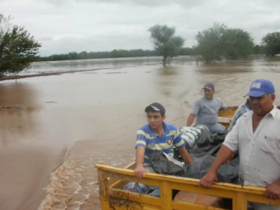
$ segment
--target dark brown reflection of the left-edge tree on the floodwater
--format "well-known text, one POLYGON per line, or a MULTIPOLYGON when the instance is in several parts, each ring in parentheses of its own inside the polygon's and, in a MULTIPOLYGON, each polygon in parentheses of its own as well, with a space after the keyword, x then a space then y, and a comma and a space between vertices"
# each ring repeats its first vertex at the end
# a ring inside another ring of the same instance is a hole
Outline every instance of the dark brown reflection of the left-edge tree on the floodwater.
POLYGON ((4 147, 38 131, 40 107, 36 105, 37 93, 31 86, 20 82, 0 85, 0 139, 4 147))

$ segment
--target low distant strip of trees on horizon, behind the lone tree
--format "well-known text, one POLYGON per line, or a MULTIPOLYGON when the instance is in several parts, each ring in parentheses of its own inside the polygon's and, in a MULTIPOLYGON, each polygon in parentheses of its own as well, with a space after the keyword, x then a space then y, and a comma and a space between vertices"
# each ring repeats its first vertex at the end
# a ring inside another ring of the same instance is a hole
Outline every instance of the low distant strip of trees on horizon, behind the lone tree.
MULTIPOLYGON (((179 49, 178 55, 192 55, 193 49, 183 47, 179 49)), ((47 57, 35 57, 36 62, 42 61, 62 61, 62 60, 79 60, 79 59, 98 59, 98 58, 119 58, 119 57, 144 57, 144 56, 160 56, 160 53, 156 50, 113 50, 104 52, 86 52, 81 53, 71 52, 68 54, 55 54, 47 57)))

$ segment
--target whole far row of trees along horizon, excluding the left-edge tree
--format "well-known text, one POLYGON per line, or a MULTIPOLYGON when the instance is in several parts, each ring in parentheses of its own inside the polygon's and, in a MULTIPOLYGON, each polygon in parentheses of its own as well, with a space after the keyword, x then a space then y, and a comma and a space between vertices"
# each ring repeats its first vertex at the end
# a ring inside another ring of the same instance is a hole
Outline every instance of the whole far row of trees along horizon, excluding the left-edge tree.
POLYGON ((122 50, 104 52, 71 52, 68 54, 55 54, 48 57, 35 57, 35 61, 60 61, 97 58, 144 57, 163 56, 163 65, 168 57, 178 55, 196 56, 197 61, 211 63, 214 60, 246 60, 251 54, 265 54, 274 56, 280 53, 279 32, 269 33, 263 37, 260 44, 255 45, 249 32, 240 28, 229 28, 225 24, 214 23, 212 27, 198 31, 195 36, 197 44, 183 47, 184 38, 175 36, 175 27, 167 25, 154 25, 148 31, 154 44, 154 50, 122 50))

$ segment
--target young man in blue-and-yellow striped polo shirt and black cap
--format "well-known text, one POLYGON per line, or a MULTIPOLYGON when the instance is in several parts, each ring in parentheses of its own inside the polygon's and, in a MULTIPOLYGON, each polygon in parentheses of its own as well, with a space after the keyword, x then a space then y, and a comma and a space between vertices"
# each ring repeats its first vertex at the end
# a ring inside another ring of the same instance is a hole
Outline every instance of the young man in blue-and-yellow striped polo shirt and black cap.
MULTIPOLYGON (((148 155, 153 150, 168 154, 173 145, 178 148, 184 162, 190 164, 192 162, 191 156, 185 148, 185 143, 181 139, 178 129, 174 125, 164 122, 165 108, 163 105, 152 103, 145 108, 145 112, 148 124, 137 131, 135 176, 141 179, 145 177, 145 172, 155 173, 150 165, 148 155)), ((160 196, 159 191, 154 192, 154 196, 160 196)))

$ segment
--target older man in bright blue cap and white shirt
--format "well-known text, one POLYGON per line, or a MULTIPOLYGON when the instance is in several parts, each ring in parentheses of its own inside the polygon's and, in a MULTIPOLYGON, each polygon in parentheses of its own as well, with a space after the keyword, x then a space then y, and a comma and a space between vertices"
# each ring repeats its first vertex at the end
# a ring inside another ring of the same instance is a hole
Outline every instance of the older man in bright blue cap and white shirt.
MULTIPOLYGON (((210 188, 218 168, 239 150, 239 182, 265 187, 265 196, 280 199, 280 110, 273 105, 275 89, 271 81, 253 81, 249 96, 251 111, 243 114, 225 137, 214 163, 199 185, 210 188)), ((255 210, 280 207, 249 203, 255 210)))

